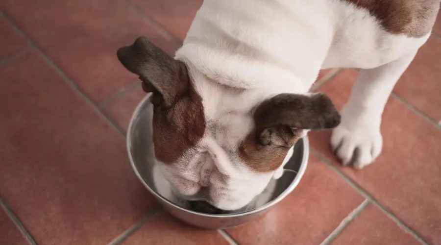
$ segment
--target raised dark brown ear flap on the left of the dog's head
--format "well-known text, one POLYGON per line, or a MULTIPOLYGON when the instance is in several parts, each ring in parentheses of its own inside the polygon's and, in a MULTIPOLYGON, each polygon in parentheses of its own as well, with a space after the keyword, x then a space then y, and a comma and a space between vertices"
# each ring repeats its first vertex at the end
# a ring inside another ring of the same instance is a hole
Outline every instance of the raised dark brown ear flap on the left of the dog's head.
POLYGON ((137 38, 131 46, 118 49, 117 56, 127 70, 140 76, 143 90, 152 92, 156 98, 160 98, 155 101, 166 107, 172 106, 189 86, 190 78, 185 64, 174 60, 145 37, 137 38))

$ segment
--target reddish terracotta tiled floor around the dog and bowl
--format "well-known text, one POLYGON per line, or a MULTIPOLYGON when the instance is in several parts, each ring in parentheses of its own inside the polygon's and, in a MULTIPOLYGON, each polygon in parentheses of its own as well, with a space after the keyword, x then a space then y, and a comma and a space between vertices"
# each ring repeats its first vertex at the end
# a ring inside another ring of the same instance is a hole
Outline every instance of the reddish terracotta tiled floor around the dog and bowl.
MULTIPOLYGON (((386 106, 373 165, 340 167, 330 132, 313 133, 294 193, 206 231, 161 209, 124 144, 144 93, 116 49, 144 35, 173 53, 201 0, 179 2, 0 1, 0 245, 441 245, 441 18, 386 106)), ((356 75, 323 71, 316 87, 341 107, 356 75)))

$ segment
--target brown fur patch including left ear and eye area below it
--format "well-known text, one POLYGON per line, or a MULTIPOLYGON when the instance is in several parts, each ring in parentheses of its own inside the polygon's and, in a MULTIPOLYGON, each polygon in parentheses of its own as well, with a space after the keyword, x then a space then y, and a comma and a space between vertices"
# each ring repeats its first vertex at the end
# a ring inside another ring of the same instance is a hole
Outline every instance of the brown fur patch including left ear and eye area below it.
POLYGON ((144 37, 118 49, 117 56, 127 70, 140 75, 143 90, 152 92, 156 158, 164 163, 176 161, 196 146, 206 126, 202 98, 186 65, 144 37))

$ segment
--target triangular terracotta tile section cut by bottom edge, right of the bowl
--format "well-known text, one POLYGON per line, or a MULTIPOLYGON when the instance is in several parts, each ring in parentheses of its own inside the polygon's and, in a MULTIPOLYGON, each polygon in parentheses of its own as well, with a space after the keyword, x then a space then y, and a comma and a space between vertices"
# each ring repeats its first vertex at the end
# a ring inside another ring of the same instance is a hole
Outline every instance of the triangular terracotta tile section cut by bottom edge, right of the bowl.
POLYGON ((332 245, 418 245, 381 210, 369 204, 334 240, 332 245))

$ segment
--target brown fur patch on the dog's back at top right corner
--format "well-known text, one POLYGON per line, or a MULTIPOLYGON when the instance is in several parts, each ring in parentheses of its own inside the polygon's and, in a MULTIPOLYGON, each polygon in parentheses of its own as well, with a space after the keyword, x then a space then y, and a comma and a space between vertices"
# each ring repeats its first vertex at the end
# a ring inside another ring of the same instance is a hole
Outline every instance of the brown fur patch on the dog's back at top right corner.
POLYGON ((364 8, 392 34, 423 37, 435 23, 440 0, 341 0, 364 8))

